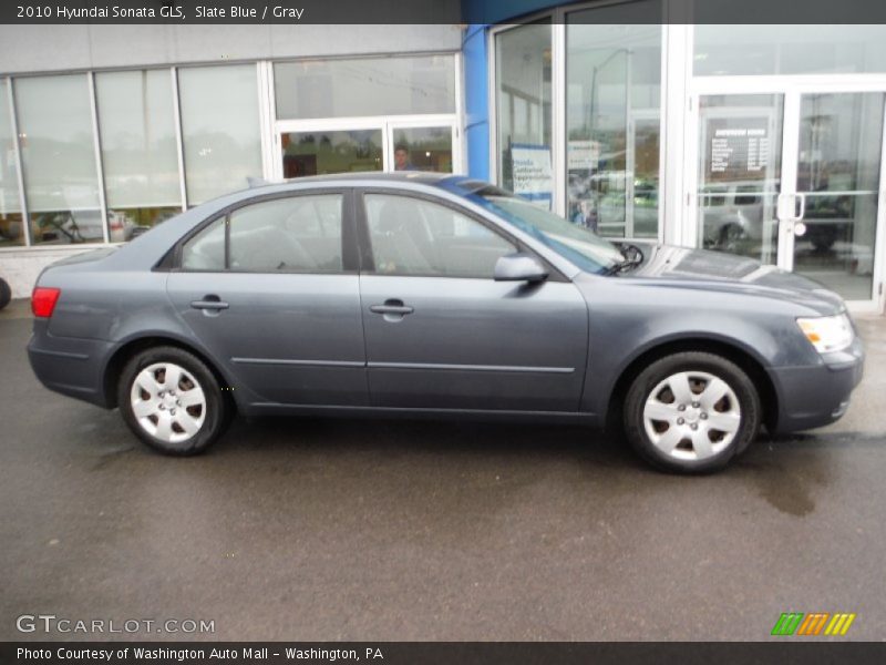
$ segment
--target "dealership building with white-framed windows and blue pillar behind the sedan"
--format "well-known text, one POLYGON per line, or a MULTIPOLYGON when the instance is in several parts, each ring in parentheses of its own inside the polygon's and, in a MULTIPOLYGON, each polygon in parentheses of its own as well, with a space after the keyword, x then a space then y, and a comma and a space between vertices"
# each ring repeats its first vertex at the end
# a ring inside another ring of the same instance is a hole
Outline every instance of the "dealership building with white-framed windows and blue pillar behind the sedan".
POLYGON ((471 6, 463 24, 0 27, 0 276, 23 297, 49 263, 247 178, 394 171, 405 150, 883 311, 886 25, 471 6))

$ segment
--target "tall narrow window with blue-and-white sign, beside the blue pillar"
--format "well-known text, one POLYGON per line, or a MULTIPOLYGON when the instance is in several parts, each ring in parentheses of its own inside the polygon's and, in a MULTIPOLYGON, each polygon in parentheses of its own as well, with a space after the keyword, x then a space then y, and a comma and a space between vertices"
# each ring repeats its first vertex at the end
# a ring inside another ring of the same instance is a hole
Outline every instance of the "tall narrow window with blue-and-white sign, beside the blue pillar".
POLYGON ((495 35, 498 183, 550 209, 550 20, 495 35))

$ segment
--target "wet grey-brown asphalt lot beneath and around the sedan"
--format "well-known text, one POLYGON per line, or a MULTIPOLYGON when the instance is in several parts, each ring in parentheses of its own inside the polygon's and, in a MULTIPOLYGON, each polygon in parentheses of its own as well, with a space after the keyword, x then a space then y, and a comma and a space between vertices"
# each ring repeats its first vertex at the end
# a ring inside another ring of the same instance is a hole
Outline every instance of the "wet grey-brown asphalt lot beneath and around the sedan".
POLYGON ((23 309, 0 313, 0 640, 103 637, 21 634, 22 614, 206 620, 187 636, 213 640, 766 640, 787 611, 886 637, 884 318, 859 320, 841 422, 680 478, 594 430, 470 422, 238 420, 164 458, 37 382, 23 309))

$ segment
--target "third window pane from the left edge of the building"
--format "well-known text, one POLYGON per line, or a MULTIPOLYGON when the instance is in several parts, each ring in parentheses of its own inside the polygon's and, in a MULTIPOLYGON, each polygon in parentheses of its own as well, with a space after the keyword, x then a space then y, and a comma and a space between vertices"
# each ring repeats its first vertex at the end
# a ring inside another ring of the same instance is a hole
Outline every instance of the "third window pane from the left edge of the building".
POLYGON ((182 209, 169 70, 95 74, 112 242, 182 209))

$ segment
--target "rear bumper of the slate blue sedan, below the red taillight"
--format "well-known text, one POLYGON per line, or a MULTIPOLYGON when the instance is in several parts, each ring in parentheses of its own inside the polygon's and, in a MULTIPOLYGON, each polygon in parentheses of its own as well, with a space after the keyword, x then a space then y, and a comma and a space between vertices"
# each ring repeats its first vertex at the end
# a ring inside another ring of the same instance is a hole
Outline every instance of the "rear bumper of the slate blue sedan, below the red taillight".
POLYGON ((47 323, 34 321, 28 359, 37 378, 55 392, 107 408, 103 368, 112 344, 97 339, 52 337, 47 323))

